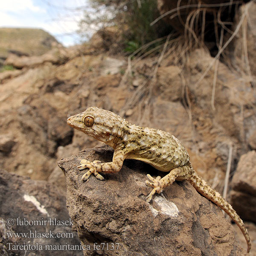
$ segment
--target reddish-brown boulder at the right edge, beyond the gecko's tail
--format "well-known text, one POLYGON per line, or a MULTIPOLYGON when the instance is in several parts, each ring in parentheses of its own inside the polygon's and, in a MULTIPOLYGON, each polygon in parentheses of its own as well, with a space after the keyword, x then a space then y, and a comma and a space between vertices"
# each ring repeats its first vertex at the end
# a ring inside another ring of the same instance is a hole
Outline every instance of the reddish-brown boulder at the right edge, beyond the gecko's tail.
POLYGON ((255 221, 256 151, 243 154, 232 179, 230 203, 243 220, 255 221))

